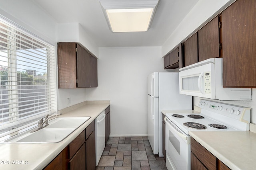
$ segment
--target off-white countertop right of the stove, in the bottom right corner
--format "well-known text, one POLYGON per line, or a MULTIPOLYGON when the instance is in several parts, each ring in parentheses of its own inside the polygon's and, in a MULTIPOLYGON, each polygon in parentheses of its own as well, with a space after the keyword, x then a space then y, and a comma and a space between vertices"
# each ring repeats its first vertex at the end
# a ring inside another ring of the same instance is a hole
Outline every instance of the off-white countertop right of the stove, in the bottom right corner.
POLYGON ((232 170, 256 168, 256 133, 190 131, 189 135, 232 170))

